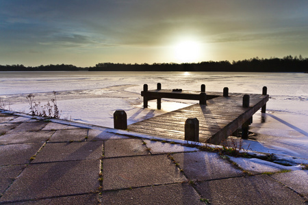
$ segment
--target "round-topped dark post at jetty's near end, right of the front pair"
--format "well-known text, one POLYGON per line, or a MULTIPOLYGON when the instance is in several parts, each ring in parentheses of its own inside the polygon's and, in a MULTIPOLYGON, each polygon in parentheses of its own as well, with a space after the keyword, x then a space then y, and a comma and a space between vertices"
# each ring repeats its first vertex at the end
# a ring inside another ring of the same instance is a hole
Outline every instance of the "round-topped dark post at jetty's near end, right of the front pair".
POLYGON ((199 120, 188 118, 185 121, 185 140, 199 141, 199 120))

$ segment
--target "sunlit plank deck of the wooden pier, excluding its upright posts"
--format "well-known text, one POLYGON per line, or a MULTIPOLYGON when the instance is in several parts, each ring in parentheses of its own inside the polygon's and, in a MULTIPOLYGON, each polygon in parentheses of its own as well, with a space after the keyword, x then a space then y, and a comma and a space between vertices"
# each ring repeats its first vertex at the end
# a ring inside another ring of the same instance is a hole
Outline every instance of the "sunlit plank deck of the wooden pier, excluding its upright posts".
MULTIPOLYGON (((172 91, 151 90, 146 91, 150 95, 147 100, 158 98, 170 98, 172 91), (163 95, 157 95, 157 93, 163 95)), ((173 92, 173 97, 178 98, 177 92, 173 92)), ((194 94, 196 96, 188 99, 198 100, 200 92, 181 92, 181 94, 194 94)), ((196 104, 171 111, 154 118, 143 120, 128 126, 130 131, 146 133, 159 137, 172 139, 185 139, 185 120, 188 118, 197 118, 199 121, 199 141, 206 143, 220 143, 227 139, 244 123, 247 123, 261 107, 265 107, 269 96, 267 94, 248 94, 250 96, 249 107, 243 107, 244 94, 230 93, 229 96, 223 96, 222 92, 206 92, 206 105, 196 104)), ((144 96, 144 93, 143 95, 144 96)), ((183 98, 182 95, 181 98, 183 98)), ((158 102, 158 100, 157 100, 158 102)), ((160 102, 160 99, 159 99, 160 102)), ((146 102, 147 105, 147 102, 146 102)))

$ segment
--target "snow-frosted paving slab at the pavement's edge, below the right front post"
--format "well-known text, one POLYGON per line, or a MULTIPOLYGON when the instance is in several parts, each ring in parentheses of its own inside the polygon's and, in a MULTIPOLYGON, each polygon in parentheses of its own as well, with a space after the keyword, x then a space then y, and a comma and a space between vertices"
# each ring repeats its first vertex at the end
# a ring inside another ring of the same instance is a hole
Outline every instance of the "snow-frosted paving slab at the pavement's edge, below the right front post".
POLYGON ((152 154, 172 153, 172 152, 194 152, 197 148, 181 146, 180 144, 163 143, 161 141, 151 141, 144 139, 146 147, 151 149, 152 154))

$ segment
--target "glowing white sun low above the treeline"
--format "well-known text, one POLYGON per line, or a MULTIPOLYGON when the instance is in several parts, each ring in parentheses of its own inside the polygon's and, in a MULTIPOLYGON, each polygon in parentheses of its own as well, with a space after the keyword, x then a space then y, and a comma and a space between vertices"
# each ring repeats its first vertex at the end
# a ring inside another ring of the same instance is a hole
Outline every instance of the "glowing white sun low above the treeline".
POLYGON ((192 40, 185 40, 175 44, 175 58, 181 63, 197 61, 201 54, 201 44, 192 40))

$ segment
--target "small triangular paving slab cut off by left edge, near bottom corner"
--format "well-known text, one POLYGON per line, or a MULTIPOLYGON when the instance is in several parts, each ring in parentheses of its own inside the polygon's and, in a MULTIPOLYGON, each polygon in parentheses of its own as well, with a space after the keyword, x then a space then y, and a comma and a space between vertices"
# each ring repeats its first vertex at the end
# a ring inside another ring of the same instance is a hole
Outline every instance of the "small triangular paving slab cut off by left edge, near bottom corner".
POLYGON ((0 196, 5 189, 8 189, 10 184, 14 181, 16 176, 21 173, 25 165, 5 166, 0 167, 0 196))

